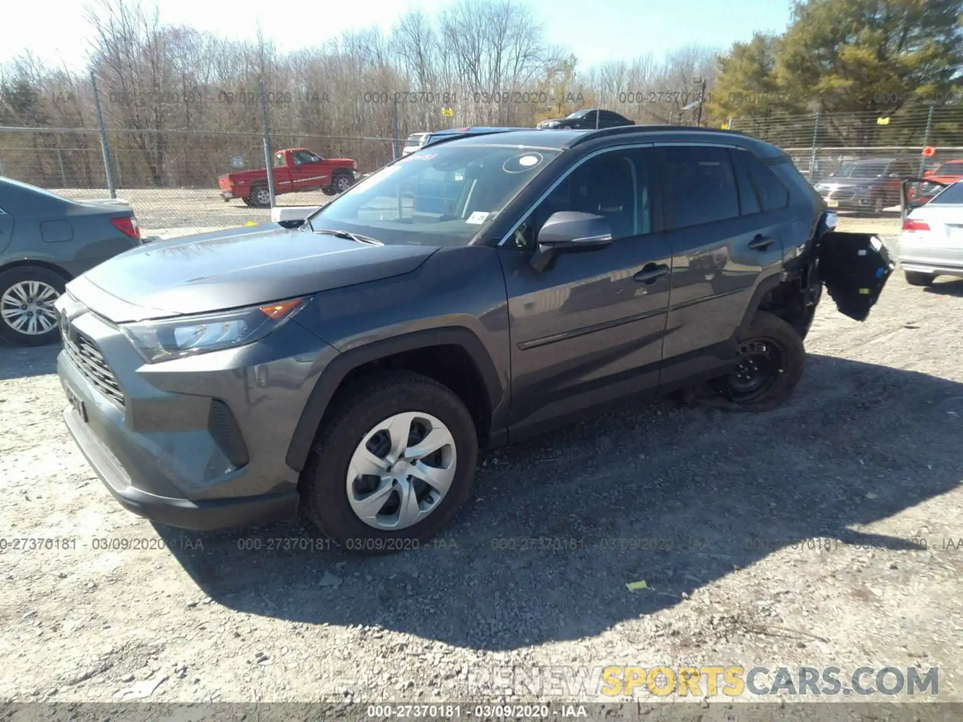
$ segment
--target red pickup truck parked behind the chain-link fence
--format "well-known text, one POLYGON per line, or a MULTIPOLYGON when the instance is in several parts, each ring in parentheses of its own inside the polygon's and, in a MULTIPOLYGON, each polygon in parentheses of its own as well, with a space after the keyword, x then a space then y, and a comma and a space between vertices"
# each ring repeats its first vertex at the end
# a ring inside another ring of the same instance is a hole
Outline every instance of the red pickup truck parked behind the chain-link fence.
MULTIPOLYGON (((274 193, 321 190, 325 195, 344 193, 358 178, 358 165, 350 158, 322 158, 306 148, 286 148, 274 153, 274 193)), ((239 170, 218 178, 221 198, 241 198, 248 206, 271 205, 268 173, 263 168, 239 170)))

